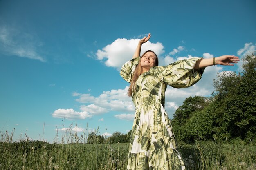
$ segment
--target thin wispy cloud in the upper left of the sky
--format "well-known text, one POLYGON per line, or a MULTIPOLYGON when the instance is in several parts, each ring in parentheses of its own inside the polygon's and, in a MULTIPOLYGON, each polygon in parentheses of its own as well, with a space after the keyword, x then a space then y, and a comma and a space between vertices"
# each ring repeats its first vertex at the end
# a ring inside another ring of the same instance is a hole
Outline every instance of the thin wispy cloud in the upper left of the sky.
POLYGON ((0 26, 0 53, 4 55, 16 55, 45 62, 45 57, 37 52, 41 45, 42 43, 36 40, 36 36, 0 26))

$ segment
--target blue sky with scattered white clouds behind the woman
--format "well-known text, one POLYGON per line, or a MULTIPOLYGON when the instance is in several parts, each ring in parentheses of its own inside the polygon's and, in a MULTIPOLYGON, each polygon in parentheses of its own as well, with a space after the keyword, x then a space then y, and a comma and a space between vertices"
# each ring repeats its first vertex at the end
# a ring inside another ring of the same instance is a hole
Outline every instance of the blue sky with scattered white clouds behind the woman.
MULTIPOLYGON (((160 65, 243 57, 256 49, 255 7, 255 0, 1 0, 0 131, 49 142, 69 128, 127 133, 134 107, 119 70, 140 38, 151 33, 142 52, 153 49, 160 65)), ((241 64, 209 67, 187 89, 167 88, 169 117, 186 97, 209 96, 217 72, 241 64)))

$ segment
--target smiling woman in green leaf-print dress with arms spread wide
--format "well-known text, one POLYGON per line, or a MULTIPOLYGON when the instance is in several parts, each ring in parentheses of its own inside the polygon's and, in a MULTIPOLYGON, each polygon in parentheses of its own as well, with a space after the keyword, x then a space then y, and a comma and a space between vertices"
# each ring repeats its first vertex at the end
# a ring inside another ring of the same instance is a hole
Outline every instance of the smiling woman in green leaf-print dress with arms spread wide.
POLYGON ((192 86, 202 76, 204 68, 215 64, 237 63, 238 57, 224 55, 211 59, 191 58, 158 66, 157 55, 141 46, 151 35, 142 38, 132 60, 121 68, 120 75, 130 84, 136 112, 132 126, 127 170, 184 170, 184 161, 177 150, 170 120, 164 110, 167 85, 175 88, 192 86))

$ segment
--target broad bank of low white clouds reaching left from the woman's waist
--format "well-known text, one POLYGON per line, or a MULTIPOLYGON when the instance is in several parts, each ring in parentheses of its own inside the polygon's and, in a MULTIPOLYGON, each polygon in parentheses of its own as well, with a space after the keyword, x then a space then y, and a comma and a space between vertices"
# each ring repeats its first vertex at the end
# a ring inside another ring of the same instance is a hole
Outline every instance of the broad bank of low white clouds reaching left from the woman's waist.
MULTIPOLYGON (((80 111, 74 109, 58 109, 52 113, 52 117, 66 119, 87 119, 94 115, 108 113, 110 111, 117 112, 134 112, 132 100, 127 95, 128 86, 124 89, 113 89, 111 91, 103 91, 98 97, 90 94, 82 94, 74 92, 72 95, 77 97, 76 101, 83 103, 80 111)), ((103 121, 104 119, 99 119, 103 121)))

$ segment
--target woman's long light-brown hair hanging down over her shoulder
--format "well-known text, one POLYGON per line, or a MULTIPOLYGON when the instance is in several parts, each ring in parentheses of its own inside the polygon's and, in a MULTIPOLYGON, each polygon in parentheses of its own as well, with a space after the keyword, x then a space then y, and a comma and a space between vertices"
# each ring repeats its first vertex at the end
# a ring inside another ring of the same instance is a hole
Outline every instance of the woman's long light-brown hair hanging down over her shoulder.
MULTIPOLYGON (((147 53, 147 52, 152 52, 155 54, 154 51, 152 50, 147 50, 145 51, 145 53, 143 53, 139 59, 139 64, 136 66, 134 72, 133 72, 133 75, 132 75, 132 81, 131 81, 131 84, 130 84, 130 87, 128 89, 128 96, 131 97, 132 96, 132 93, 133 91, 135 91, 135 82, 137 81, 137 79, 139 78, 139 75, 141 75, 142 73, 142 66, 140 65, 140 61, 141 61, 141 58, 147 53)), ((155 66, 158 66, 158 57, 157 55, 155 54, 156 56, 156 60, 155 60, 155 66)))

